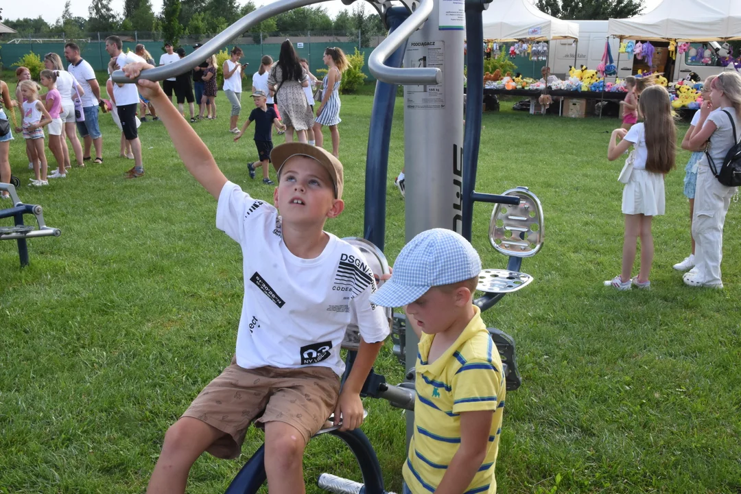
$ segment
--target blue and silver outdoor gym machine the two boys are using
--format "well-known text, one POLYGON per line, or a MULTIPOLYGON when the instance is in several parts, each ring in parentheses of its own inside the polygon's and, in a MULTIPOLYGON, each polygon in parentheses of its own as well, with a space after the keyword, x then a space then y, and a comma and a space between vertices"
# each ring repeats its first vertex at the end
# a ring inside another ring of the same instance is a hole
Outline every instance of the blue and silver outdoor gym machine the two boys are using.
MULTIPOLYGON (((254 24, 296 7, 325 0, 278 0, 247 14, 184 59, 144 70, 139 79, 160 81, 193 69, 254 24)), ((476 166, 481 133, 483 99, 483 35, 481 13, 485 0, 466 0, 465 8, 453 0, 368 0, 381 16, 388 37, 368 57, 368 69, 376 77, 376 93, 368 134, 365 167, 364 238, 346 239, 364 254, 376 278, 388 273, 383 256, 385 246, 386 184, 391 119, 397 84, 405 87, 405 175, 407 176, 405 216, 406 240, 417 233, 443 227, 471 240, 473 203, 497 204, 491 216, 489 239, 495 250, 508 256, 506 270, 484 270, 479 290, 485 293, 474 303, 487 310, 507 293, 522 289, 532 277, 520 273, 522 258, 534 256, 543 242, 543 213, 536 196, 526 187, 516 187, 501 196, 477 193, 476 166), (463 37, 468 39, 468 106, 463 133, 463 37), (422 67, 418 67, 422 61, 422 67), (402 67, 402 62, 404 67, 402 67), (465 144, 465 145, 464 145, 465 144)), ((345 4, 353 0, 343 0, 345 4)), ((131 82, 122 71, 113 81, 131 82)), ((389 314, 389 316, 391 316, 389 314)), ((508 390, 521 383, 516 368, 513 338, 490 328, 502 358, 508 390)), ((410 412, 414 407, 414 371, 417 338, 407 328, 403 315, 394 315, 393 353, 407 367, 406 380, 399 386, 387 384, 384 376, 371 371, 363 397, 384 398, 394 407, 410 412)), ((348 350, 345 376, 353 366, 359 333, 348 327, 342 347, 348 350)), ((411 435, 412 414, 407 413, 411 435)), ((319 477, 319 486, 333 493, 386 494, 381 468, 370 441, 362 430, 329 433, 345 441, 358 460, 362 483, 331 474, 319 477)), ((253 494, 265 482, 265 447, 260 447, 236 475, 227 494, 253 494)))

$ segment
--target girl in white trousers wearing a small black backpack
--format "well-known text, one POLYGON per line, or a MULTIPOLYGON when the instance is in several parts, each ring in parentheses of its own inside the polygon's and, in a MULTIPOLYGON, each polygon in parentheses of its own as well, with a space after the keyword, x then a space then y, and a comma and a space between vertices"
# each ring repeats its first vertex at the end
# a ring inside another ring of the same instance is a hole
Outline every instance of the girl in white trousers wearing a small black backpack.
POLYGON ((711 83, 710 98, 712 105, 711 101, 702 104, 700 121, 689 142, 692 150, 705 148, 705 157, 697 170, 692 219, 695 267, 682 279, 690 287, 722 288, 723 224, 741 179, 738 173, 734 176, 734 167, 741 166, 738 156, 734 158, 741 135, 741 76, 721 73, 711 83))

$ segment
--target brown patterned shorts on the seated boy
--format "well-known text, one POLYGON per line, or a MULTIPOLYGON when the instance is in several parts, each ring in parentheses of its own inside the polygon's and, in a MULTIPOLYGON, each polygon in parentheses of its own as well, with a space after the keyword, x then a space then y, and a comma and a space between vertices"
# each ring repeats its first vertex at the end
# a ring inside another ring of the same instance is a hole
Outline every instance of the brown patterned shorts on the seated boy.
POLYGON ((244 369, 232 359, 182 416, 226 433, 207 452, 217 458, 236 458, 253 421, 285 422, 308 443, 334 412, 338 397, 339 378, 329 367, 244 369))

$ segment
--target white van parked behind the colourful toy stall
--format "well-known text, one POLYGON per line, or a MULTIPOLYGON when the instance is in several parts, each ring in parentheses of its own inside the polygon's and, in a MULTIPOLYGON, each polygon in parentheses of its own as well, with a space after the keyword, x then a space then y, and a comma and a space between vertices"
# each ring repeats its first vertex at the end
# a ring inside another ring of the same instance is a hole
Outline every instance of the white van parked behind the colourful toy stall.
MULTIPOLYGON (((574 21, 579 24, 579 41, 571 39, 554 39, 551 41, 548 53, 548 65, 551 73, 560 79, 568 77, 569 67, 581 67, 585 65, 588 69, 597 69, 605 53, 605 41, 608 40, 608 21, 574 21)), ((654 58, 649 67, 645 59, 638 60, 632 54, 618 53, 619 40, 609 38, 610 48, 614 62, 617 66, 617 76, 625 79, 638 73, 638 70, 647 72, 655 70, 664 73, 666 79, 677 81, 685 79, 689 73, 694 72, 705 80, 707 76, 717 74, 723 70, 734 70, 732 65, 728 67, 708 66, 700 61, 693 61, 690 53, 677 53, 677 60, 671 59, 668 54, 668 42, 651 42, 654 45, 654 58), (619 58, 618 58, 619 56, 619 58)), ((627 39, 623 41, 628 41, 627 39)), ((635 40, 639 41, 639 40, 635 40)), ((719 45, 712 46, 710 43, 692 43, 695 50, 714 50, 719 45)), ((608 81, 614 81, 615 76, 608 77, 608 81)))

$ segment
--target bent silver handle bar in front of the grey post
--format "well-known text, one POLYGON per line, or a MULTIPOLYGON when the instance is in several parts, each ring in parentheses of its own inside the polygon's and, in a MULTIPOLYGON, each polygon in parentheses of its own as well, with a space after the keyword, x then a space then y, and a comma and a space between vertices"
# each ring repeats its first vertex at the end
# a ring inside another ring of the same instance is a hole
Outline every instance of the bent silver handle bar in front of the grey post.
POLYGON ((422 0, 409 18, 389 33, 388 37, 379 44, 371 56, 368 57, 368 70, 373 77, 388 84, 440 84, 442 72, 438 68, 407 68, 399 69, 385 64, 386 59, 396 48, 406 43, 409 36, 425 23, 432 13, 434 0, 422 0))

